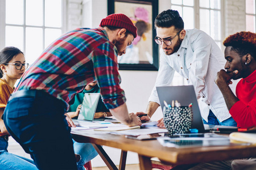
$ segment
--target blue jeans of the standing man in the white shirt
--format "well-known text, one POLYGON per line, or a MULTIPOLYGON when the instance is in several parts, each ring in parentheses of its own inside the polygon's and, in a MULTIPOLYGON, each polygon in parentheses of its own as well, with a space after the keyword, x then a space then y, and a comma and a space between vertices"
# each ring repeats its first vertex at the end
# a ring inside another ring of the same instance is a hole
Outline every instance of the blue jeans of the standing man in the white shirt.
POLYGON ((237 126, 237 122, 232 117, 229 117, 225 121, 220 122, 217 117, 210 110, 208 115, 208 122, 203 119, 204 124, 207 125, 221 125, 221 126, 237 126))

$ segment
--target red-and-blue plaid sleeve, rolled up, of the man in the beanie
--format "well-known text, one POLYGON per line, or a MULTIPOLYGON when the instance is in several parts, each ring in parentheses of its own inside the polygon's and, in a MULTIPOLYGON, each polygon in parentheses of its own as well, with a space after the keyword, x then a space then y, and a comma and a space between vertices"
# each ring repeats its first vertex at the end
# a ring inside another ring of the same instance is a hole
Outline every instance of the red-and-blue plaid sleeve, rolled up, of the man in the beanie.
POLYGON ((94 50, 92 55, 94 74, 100 87, 101 97, 108 109, 114 109, 126 101, 120 87, 116 48, 106 42, 94 50))

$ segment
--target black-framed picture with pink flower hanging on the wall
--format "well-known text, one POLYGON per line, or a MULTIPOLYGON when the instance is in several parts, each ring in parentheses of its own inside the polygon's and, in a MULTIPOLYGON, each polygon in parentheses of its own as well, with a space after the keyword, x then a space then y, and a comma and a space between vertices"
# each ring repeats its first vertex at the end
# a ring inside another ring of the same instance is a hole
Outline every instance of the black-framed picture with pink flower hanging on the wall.
POLYGON ((137 27, 137 37, 118 56, 119 70, 158 70, 158 44, 154 20, 158 15, 158 0, 108 0, 108 15, 125 14, 137 27))

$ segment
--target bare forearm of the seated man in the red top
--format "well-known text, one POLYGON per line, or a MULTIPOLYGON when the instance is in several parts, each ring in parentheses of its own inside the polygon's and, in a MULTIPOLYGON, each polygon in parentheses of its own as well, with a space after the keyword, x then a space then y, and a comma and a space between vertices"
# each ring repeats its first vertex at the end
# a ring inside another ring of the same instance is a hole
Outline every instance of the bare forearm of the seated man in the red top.
POLYGON ((230 110, 232 106, 239 101, 239 99, 233 94, 232 90, 226 84, 226 82, 218 82, 217 83, 218 88, 220 88, 220 91, 225 99, 226 106, 230 110))

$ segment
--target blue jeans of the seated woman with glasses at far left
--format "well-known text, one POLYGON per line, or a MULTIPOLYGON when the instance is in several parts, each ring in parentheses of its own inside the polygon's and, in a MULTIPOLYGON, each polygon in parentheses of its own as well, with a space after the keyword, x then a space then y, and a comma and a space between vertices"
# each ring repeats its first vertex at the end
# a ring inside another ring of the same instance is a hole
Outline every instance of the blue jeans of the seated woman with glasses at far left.
POLYGON ((0 138, 0 169, 38 170, 33 160, 11 154, 7 151, 8 141, 0 138))

